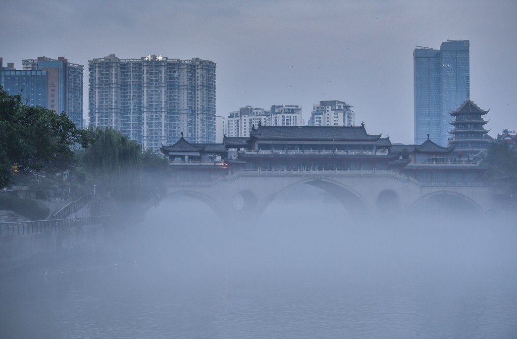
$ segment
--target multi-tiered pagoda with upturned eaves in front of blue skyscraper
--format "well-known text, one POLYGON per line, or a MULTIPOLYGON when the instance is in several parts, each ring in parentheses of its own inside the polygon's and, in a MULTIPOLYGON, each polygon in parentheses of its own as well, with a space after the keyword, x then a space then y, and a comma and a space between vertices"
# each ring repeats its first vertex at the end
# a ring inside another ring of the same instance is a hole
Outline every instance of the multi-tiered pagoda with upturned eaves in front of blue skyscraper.
POLYGON ((492 138, 483 127, 488 121, 484 121, 482 116, 488 112, 474 104, 470 97, 457 110, 450 112, 454 116, 450 123, 454 129, 449 131, 452 135, 449 145, 454 147, 455 157, 474 159, 486 155, 492 138))

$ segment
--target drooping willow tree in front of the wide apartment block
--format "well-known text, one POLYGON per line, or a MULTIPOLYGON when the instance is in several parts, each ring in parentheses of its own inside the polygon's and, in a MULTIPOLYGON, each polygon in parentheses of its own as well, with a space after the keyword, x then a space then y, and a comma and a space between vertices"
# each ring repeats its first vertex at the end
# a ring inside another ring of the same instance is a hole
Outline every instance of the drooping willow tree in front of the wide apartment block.
POLYGON ((80 155, 79 166, 96 195, 134 200, 140 195, 141 146, 113 128, 92 127, 94 142, 80 155))

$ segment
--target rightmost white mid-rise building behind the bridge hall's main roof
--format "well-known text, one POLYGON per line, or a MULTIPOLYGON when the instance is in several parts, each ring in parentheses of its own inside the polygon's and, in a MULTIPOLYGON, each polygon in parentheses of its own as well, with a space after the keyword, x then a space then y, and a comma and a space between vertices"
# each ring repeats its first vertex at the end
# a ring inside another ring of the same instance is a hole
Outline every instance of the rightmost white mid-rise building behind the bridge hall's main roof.
POLYGON ((351 105, 339 100, 324 100, 312 106, 309 126, 354 126, 355 112, 351 105))

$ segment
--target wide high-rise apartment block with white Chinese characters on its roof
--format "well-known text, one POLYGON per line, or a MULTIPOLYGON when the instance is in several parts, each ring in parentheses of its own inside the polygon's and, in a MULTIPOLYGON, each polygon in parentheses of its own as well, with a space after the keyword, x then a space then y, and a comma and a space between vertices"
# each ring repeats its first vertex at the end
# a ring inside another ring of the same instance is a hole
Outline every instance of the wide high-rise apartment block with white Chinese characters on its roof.
POLYGON ((158 150, 183 134, 191 143, 216 142, 216 64, 200 58, 115 54, 88 61, 89 123, 122 131, 158 150))

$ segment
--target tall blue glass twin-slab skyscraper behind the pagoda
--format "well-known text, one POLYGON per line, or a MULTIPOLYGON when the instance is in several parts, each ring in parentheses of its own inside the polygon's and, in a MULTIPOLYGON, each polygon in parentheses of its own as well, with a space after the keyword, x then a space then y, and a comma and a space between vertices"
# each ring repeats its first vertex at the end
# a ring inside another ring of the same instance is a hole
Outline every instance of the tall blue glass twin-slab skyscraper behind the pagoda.
POLYGON ((450 112, 467 99, 470 87, 469 41, 448 40, 439 50, 418 47, 413 52, 415 144, 430 139, 447 146, 450 112))

